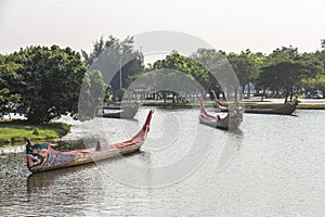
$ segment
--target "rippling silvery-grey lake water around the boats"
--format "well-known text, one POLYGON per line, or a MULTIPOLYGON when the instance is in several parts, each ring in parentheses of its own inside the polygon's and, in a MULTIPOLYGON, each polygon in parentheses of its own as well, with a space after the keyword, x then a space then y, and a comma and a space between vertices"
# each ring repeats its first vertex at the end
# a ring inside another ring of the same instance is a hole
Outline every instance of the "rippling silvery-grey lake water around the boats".
MULTIPOLYGON (((147 111, 68 120, 65 139, 127 140, 147 111)), ((235 132, 197 115, 156 110, 141 152, 48 173, 28 171, 24 145, 0 148, 0 216, 324 216, 325 111, 245 114, 235 132)))

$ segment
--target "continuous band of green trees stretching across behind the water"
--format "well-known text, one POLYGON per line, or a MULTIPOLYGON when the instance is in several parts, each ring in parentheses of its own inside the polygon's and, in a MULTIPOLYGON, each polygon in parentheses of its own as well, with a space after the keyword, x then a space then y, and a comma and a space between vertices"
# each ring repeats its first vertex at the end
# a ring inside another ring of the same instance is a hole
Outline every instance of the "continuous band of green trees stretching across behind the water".
POLYGON ((321 47, 310 53, 281 47, 270 54, 249 49, 234 53, 200 48, 190 56, 172 51, 145 66, 132 37, 102 37, 90 52, 81 54, 56 44, 31 46, 0 54, 0 115, 20 113, 26 123, 35 125, 66 114, 89 119, 100 104, 121 101, 123 97, 162 100, 168 106, 186 107, 204 91, 214 89, 218 97, 224 97, 220 80, 213 76, 213 72, 224 69, 235 73, 242 93, 248 98, 251 85, 255 94, 285 101, 295 94, 312 95, 316 90, 324 93, 325 40, 321 40, 321 47))

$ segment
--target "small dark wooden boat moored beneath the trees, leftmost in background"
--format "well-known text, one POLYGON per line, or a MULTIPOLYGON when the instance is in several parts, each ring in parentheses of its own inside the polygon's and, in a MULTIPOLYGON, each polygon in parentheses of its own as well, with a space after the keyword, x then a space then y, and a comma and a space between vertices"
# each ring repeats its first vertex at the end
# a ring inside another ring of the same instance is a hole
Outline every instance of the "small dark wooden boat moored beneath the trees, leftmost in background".
POLYGON ((138 113, 139 106, 103 106, 98 111, 98 117, 107 117, 107 118, 125 118, 132 119, 138 113), (106 112, 106 111, 109 112, 106 112), (114 112, 112 112, 114 111, 114 112))

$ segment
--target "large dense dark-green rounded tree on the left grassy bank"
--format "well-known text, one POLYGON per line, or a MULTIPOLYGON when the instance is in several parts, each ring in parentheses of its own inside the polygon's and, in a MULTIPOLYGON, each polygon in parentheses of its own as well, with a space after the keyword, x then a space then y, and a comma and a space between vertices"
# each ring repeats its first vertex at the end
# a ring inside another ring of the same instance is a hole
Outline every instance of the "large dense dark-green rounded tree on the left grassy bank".
POLYGON ((58 46, 28 47, 9 56, 21 64, 20 111, 28 122, 47 123, 78 112, 81 81, 87 72, 79 53, 58 46))

